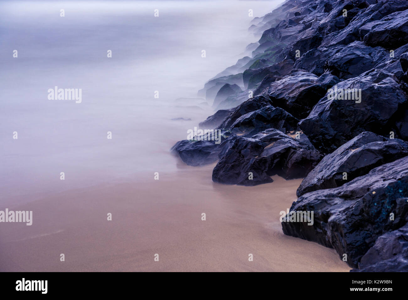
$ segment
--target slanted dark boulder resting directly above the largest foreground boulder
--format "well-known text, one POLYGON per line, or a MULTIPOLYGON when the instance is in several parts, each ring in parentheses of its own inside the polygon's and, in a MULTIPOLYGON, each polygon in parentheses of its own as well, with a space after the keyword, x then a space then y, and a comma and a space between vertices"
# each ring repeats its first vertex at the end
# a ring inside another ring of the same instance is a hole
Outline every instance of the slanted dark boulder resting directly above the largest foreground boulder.
POLYGON ((384 163, 408 155, 408 143, 373 132, 361 132, 322 161, 303 179, 297 196, 315 190, 336 188, 384 163), (346 172, 346 177, 344 177, 346 172))

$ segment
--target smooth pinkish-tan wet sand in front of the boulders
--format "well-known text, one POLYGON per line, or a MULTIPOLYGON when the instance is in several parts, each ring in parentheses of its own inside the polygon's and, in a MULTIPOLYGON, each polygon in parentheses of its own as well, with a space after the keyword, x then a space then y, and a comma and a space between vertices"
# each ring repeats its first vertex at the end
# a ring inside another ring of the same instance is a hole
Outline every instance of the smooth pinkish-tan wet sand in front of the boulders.
POLYGON ((333 249, 282 233, 279 212, 296 199, 300 179, 274 176, 273 183, 257 187, 220 185, 211 181, 212 168, 184 167, 160 173, 158 181, 152 174, 134 183, 72 190, 8 207, 32 210, 33 225, 1 224, 0 270, 350 269, 333 249), (112 221, 107 221, 109 212, 112 221))

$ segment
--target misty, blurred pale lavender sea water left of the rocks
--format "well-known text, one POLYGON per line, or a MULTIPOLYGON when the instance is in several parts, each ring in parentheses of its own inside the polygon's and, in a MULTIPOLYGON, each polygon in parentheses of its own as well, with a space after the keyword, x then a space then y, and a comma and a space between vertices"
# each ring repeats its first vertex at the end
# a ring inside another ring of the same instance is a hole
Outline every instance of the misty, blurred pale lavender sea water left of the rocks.
POLYGON ((171 146, 213 110, 175 99, 197 98, 259 39, 249 9, 281 2, 0 2, 0 204, 183 168, 171 146), (48 99, 55 86, 82 102, 48 99))

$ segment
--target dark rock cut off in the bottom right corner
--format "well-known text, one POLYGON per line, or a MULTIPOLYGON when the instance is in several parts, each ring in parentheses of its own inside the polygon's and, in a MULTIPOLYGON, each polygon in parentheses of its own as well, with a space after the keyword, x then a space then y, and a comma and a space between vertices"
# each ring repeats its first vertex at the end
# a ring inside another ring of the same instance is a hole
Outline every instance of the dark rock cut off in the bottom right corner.
POLYGON ((379 236, 351 272, 408 272, 408 224, 379 236))

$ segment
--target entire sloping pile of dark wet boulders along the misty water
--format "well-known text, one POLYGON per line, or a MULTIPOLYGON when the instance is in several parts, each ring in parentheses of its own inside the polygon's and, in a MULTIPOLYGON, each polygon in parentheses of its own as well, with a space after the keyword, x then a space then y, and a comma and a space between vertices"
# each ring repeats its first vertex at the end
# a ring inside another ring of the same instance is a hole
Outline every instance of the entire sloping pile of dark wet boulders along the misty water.
POLYGON ((202 122, 221 144, 173 150, 218 161, 218 183, 305 177, 291 210, 314 223, 283 222, 285 234, 347 254, 353 271, 406 270, 408 1, 287 0, 248 27, 252 53, 200 91, 211 102, 226 84, 241 89, 220 93, 202 122))

